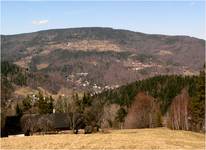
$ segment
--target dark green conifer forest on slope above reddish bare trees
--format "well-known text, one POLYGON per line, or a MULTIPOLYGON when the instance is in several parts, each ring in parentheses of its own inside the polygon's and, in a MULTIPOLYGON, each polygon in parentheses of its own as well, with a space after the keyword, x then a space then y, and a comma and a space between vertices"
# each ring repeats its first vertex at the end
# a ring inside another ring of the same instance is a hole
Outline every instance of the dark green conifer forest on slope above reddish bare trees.
POLYGON ((131 105, 138 92, 145 92, 157 99, 161 104, 161 112, 165 113, 172 99, 183 88, 187 88, 191 97, 197 94, 197 76, 164 75, 155 76, 122 86, 116 90, 105 91, 98 98, 104 98, 109 103, 131 105))

